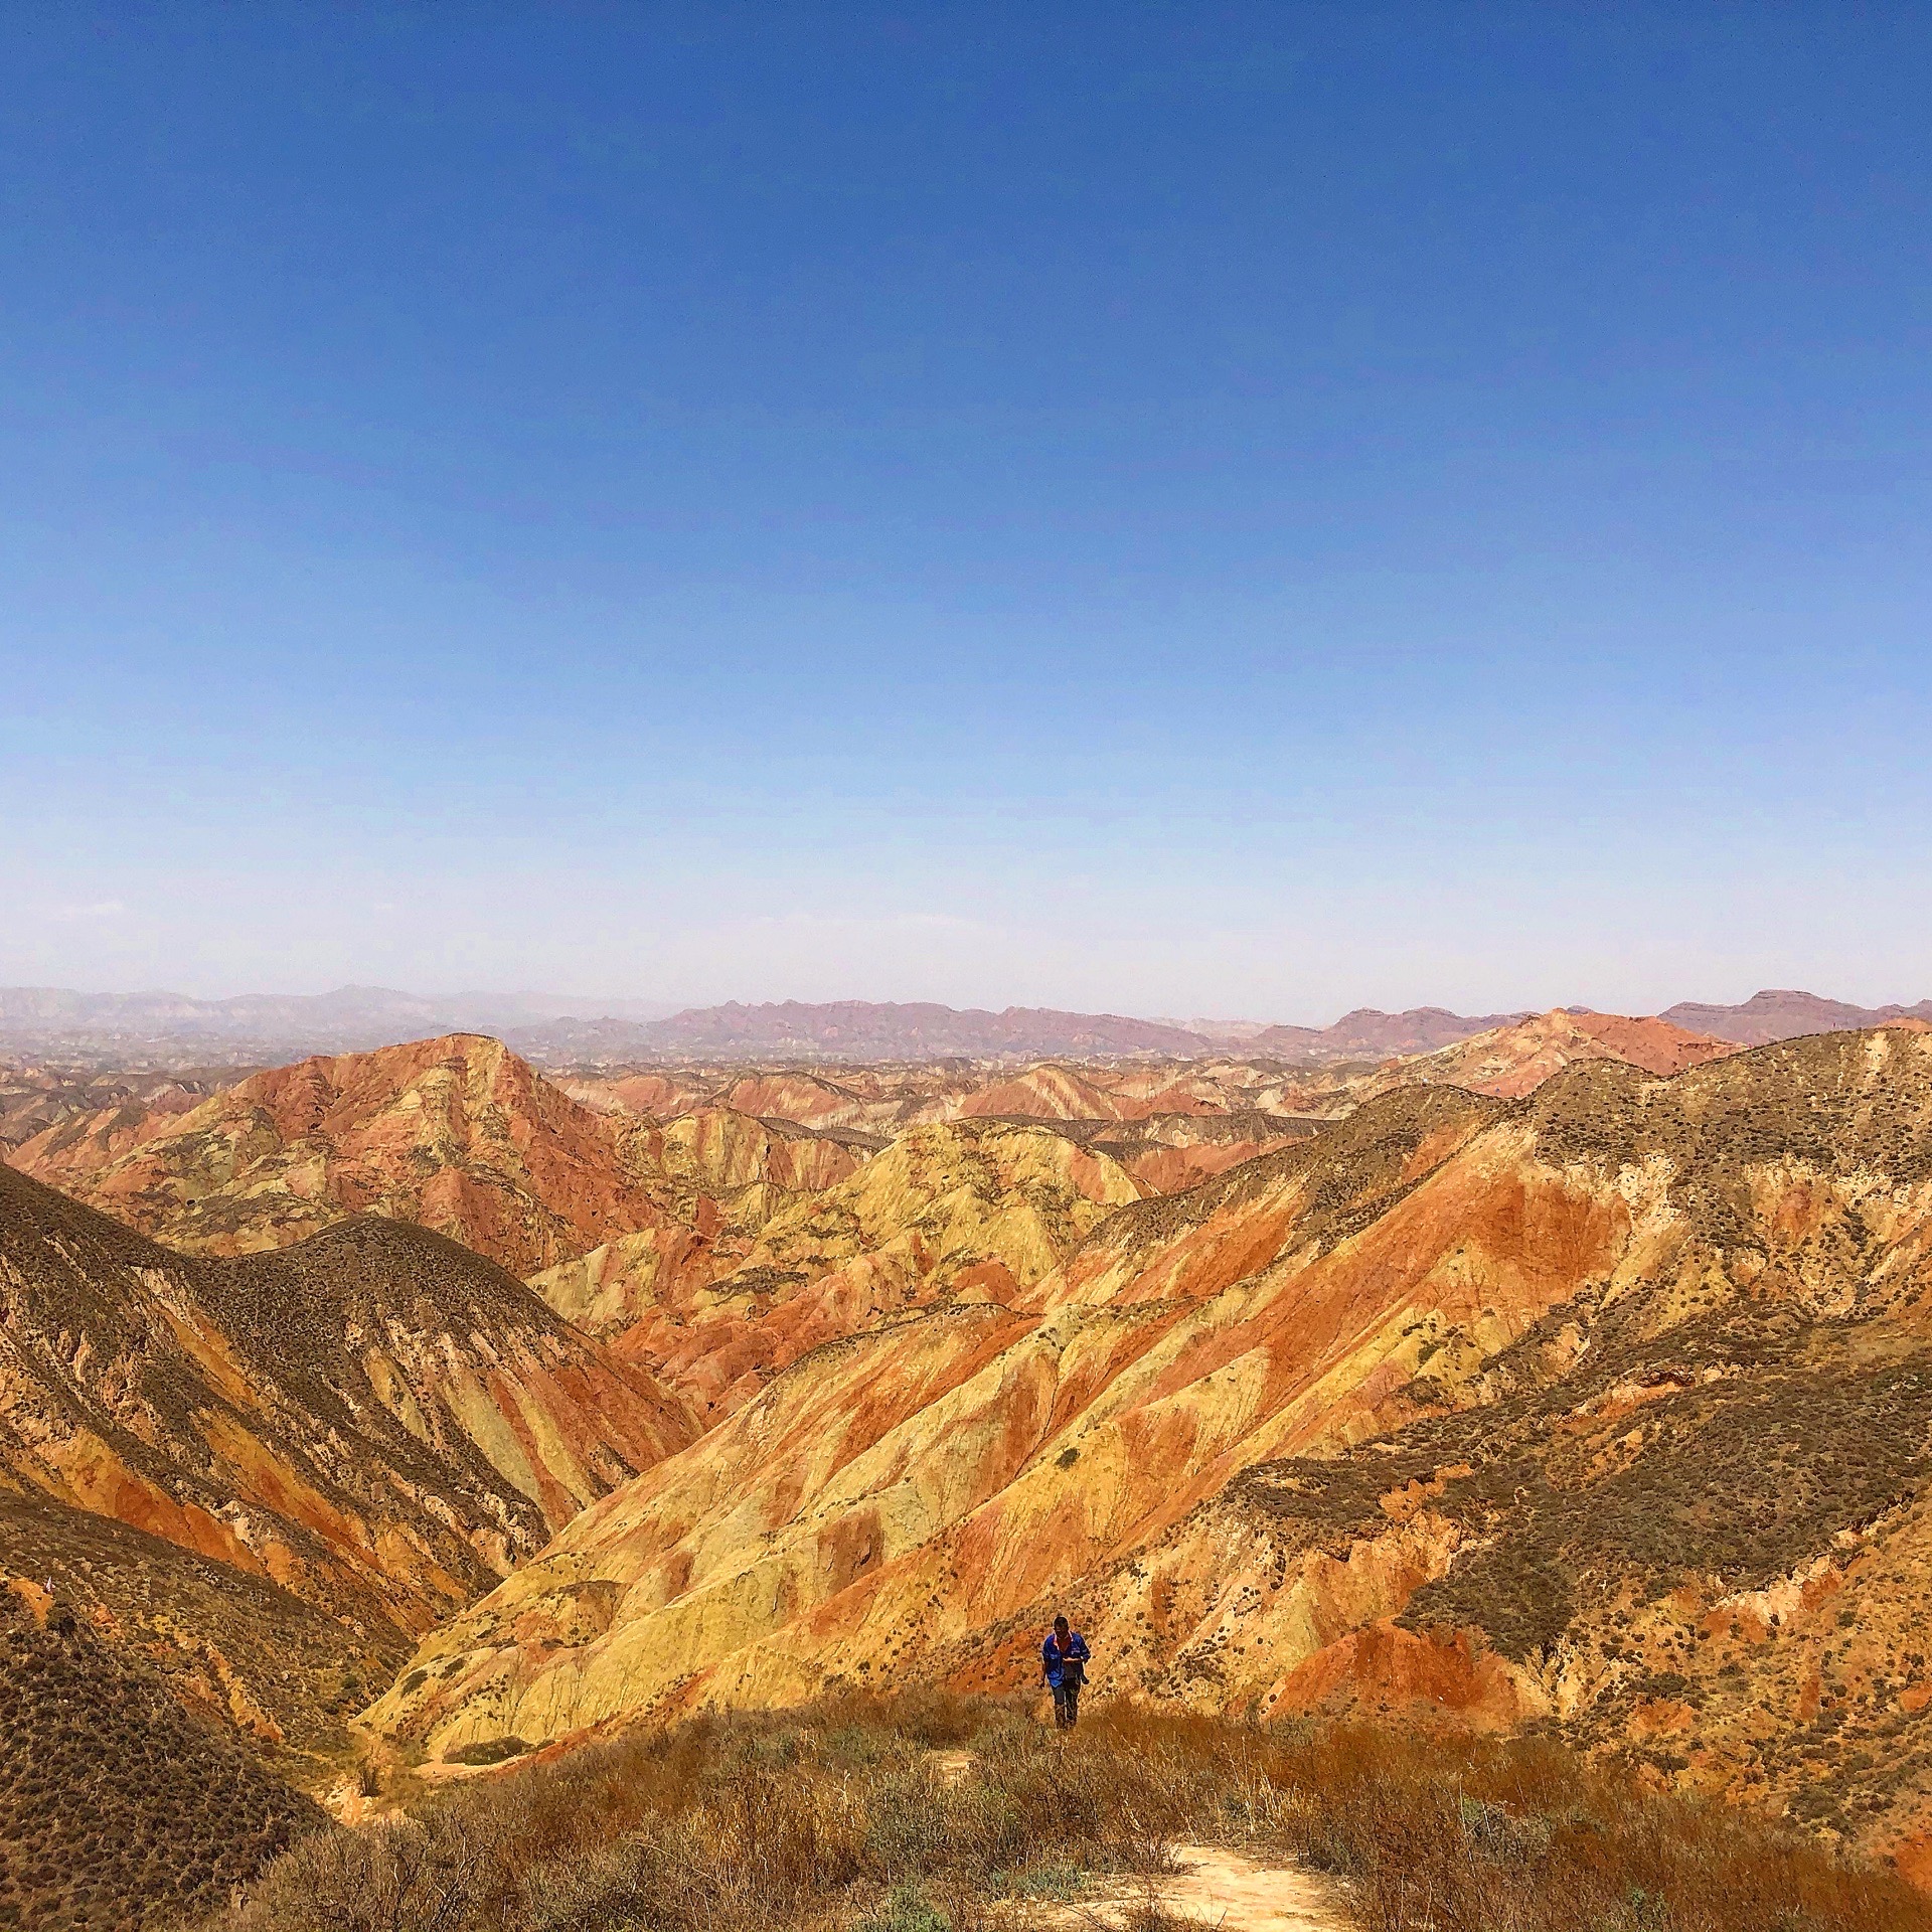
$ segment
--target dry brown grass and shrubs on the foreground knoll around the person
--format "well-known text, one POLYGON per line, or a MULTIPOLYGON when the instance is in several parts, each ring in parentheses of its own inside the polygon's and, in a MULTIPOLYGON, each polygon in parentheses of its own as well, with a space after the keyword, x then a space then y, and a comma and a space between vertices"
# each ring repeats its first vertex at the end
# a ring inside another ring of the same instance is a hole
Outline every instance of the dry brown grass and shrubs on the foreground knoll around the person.
POLYGON ((294 1847, 222 1924, 987 1932, 1090 1874, 1155 1874, 1180 1839, 1335 1874, 1364 1932, 1932 1932, 1891 1874, 1551 1745, 1128 1706, 1063 1743, 937 1696, 701 1719, 477 1779, 294 1847), (958 1747, 974 1768, 949 1781, 933 1752, 958 1747))

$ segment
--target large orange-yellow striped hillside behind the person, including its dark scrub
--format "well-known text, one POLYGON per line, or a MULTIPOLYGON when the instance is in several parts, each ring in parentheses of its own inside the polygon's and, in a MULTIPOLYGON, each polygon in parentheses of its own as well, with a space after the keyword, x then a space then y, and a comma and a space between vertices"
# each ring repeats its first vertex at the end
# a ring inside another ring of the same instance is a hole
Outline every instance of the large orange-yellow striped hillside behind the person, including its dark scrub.
POLYGON ((1548 1719, 1909 1862, 1928 1294, 1924 1036, 1397 1092, 794 1360, 371 1718, 1005 1687, 1066 1607, 1099 1690, 1548 1719))

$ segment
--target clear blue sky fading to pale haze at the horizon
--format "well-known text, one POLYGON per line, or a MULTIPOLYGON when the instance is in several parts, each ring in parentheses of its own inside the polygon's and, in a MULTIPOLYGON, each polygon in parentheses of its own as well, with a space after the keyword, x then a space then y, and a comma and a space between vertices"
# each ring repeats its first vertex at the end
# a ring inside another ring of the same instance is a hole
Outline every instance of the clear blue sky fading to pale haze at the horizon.
POLYGON ((1932 8, 0 12, 0 983, 1932 993, 1932 8))

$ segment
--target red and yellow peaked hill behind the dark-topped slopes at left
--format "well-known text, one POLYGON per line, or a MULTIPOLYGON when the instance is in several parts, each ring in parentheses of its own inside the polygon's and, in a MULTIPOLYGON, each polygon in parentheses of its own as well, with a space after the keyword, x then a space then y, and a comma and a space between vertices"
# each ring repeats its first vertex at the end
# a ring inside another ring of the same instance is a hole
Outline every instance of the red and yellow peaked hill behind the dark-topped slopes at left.
POLYGON ((381 1213, 527 1275, 641 1231, 703 1271, 715 1244, 728 1254, 864 1157, 728 1109, 667 1122, 626 1105, 676 1092, 618 1082, 593 1088, 591 1105, 500 1041, 452 1034, 276 1066, 185 1111, 129 1101, 46 1128, 12 1159, 199 1254, 280 1248, 381 1213))

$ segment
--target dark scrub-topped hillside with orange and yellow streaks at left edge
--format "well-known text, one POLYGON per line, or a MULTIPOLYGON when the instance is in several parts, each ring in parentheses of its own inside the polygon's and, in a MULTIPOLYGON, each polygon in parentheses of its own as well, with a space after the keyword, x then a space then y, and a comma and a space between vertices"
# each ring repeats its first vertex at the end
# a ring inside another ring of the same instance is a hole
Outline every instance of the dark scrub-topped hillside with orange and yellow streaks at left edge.
POLYGON ((359 1219, 172 1254, 0 1167, 0 1470, 330 1613, 421 1629, 694 1434, 522 1283, 359 1219))

